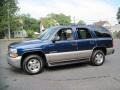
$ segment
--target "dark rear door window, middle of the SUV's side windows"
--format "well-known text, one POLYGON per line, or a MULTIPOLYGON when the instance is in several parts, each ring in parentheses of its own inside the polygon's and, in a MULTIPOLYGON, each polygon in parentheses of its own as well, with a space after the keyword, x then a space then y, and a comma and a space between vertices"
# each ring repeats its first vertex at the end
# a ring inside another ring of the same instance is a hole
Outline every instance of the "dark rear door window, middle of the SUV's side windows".
POLYGON ((88 39, 91 38, 91 34, 88 29, 85 28, 78 28, 77 34, 79 39, 88 39))

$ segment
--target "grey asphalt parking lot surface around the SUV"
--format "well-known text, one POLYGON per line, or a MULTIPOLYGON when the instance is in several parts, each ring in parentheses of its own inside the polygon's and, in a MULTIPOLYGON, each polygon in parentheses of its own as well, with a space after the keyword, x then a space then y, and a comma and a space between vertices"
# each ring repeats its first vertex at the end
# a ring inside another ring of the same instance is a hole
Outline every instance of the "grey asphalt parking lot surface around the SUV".
POLYGON ((115 54, 107 56, 102 66, 52 67, 38 75, 26 75, 7 64, 11 42, 0 40, 0 90, 120 90, 120 40, 114 40, 115 54))

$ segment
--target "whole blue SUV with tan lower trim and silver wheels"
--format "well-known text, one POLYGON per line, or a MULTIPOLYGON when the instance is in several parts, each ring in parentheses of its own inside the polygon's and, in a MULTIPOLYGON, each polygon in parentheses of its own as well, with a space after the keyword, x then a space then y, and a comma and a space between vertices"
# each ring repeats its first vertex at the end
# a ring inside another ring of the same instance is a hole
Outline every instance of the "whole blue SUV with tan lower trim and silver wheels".
POLYGON ((8 63, 34 75, 45 66, 85 61, 100 66, 105 56, 113 53, 113 38, 103 27, 55 26, 46 29, 36 40, 10 44, 8 63))

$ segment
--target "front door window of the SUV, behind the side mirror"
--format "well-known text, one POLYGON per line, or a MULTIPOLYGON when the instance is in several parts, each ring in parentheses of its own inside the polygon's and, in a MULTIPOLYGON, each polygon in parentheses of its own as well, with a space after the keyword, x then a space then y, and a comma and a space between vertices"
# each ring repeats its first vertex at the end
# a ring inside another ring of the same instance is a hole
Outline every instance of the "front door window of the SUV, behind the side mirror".
POLYGON ((69 28, 61 29, 57 32, 57 36, 59 37, 60 41, 73 40, 72 29, 69 28))

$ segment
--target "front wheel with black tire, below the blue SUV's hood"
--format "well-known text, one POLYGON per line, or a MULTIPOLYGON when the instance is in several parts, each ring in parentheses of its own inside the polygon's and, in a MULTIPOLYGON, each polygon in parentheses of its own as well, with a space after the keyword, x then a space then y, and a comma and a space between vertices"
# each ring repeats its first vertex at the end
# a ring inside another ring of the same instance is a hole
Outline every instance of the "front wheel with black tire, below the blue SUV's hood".
POLYGON ((27 56, 23 61, 22 68, 29 75, 39 74, 44 69, 43 59, 38 55, 27 56))

